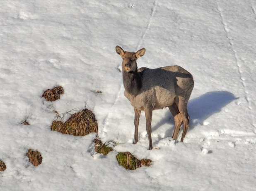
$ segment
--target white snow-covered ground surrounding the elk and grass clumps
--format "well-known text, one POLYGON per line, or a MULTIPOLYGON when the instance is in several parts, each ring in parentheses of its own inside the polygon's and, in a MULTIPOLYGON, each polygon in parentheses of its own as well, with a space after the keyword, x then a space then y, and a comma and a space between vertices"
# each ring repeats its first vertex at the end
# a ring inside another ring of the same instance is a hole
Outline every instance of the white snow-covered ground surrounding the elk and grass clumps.
POLYGON ((256 190, 255 35, 255 0, 1 0, 0 190, 256 190), (154 149, 144 113, 132 144, 116 45, 145 47, 139 67, 179 65, 193 75, 184 142, 171 139, 174 120, 164 108, 153 112, 154 149), (41 98, 56 85, 59 100, 41 98), (103 142, 119 143, 107 156, 94 153, 95 133, 50 129, 54 111, 85 107, 103 142), (29 148, 43 157, 38 167, 29 148), (126 170, 119 151, 153 163, 126 170))

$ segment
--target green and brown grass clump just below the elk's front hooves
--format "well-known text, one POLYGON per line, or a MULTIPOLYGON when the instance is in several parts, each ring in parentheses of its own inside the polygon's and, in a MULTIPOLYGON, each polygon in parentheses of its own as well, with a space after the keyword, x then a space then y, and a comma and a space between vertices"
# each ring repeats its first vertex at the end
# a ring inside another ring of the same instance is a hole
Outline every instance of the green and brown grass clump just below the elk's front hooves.
POLYGON ((138 158, 136 158, 129 152, 118 153, 116 156, 116 159, 117 159, 119 165, 122 165, 124 168, 126 168, 128 170, 135 170, 136 168, 139 168, 142 165, 148 167, 152 163, 152 160, 150 160, 150 159, 139 160, 138 158))

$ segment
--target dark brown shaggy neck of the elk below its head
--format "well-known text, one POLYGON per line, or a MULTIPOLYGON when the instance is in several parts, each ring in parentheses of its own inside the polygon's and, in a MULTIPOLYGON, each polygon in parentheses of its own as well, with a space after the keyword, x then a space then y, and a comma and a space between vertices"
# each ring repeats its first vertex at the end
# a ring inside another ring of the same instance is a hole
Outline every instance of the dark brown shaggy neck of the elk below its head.
POLYGON ((125 90, 133 96, 140 94, 142 82, 137 68, 135 71, 131 72, 123 71, 123 86, 125 90))

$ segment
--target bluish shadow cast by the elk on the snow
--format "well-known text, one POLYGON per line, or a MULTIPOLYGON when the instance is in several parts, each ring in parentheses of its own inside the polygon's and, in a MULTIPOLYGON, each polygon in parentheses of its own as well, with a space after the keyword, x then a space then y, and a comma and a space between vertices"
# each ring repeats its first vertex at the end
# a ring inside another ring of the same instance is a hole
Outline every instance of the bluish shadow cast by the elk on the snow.
MULTIPOLYGON (((232 102, 233 100, 238 99, 234 97, 234 94, 227 91, 218 91, 218 92, 208 92, 203 94, 200 97, 195 99, 191 99, 188 101, 188 113, 190 116, 189 122, 189 130, 193 129, 199 124, 203 124, 203 121, 213 115, 214 113, 218 113, 221 109, 232 102)), ((152 127, 152 132, 157 130, 159 127, 164 125, 165 123, 169 123, 170 125, 174 125, 173 117, 169 111, 166 112, 165 117, 162 118, 157 125, 152 127), (171 118, 172 120, 169 120, 171 118)), ((183 125, 182 125, 183 126, 183 125)), ((181 127, 182 127, 181 126, 181 127)), ((171 137, 174 131, 174 126, 167 130, 166 137, 171 137)), ((182 130, 180 130, 182 132, 182 130)), ((165 137, 162 137, 165 138, 165 137)))

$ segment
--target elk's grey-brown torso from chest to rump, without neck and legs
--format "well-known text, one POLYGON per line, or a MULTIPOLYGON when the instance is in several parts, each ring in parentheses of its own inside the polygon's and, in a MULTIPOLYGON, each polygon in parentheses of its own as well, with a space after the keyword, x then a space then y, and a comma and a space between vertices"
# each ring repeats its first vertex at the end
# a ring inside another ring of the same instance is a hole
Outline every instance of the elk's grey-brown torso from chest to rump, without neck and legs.
POLYGON ((177 96, 187 97, 188 101, 193 90, 193 76, 180 66, 142 67, 138 72, 142 80, 140 93, 132 96, 125 91, 125 96, 140 110, 168 107, 177 96))

